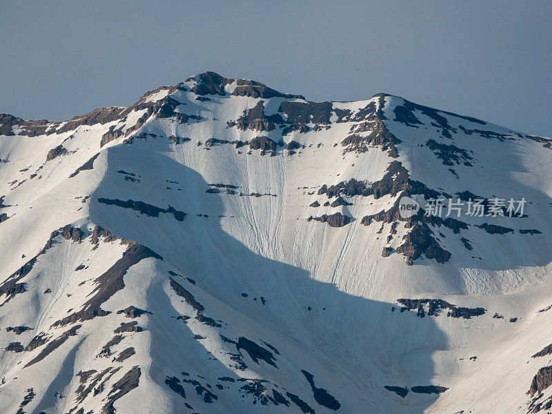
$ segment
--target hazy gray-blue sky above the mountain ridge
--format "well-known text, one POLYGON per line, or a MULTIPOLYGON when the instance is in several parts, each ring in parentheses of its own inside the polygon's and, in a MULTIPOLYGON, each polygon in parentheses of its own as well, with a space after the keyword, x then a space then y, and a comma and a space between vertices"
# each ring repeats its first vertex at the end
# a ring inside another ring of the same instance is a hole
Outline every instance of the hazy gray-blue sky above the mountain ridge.
POLYGON ((0 112, 62 120, 197 72, 377 92, 552 135, 551 1, 12 1, 0 112))

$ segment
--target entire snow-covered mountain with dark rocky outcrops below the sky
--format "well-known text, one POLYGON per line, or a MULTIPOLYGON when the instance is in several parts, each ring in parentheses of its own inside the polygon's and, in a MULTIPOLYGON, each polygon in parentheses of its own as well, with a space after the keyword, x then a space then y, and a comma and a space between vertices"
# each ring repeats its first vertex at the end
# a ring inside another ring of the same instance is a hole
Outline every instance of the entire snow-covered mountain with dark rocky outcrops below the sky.
POLYGON ((552 406, 551 139, 214 72, 0 134, 2 413, 552 406))

